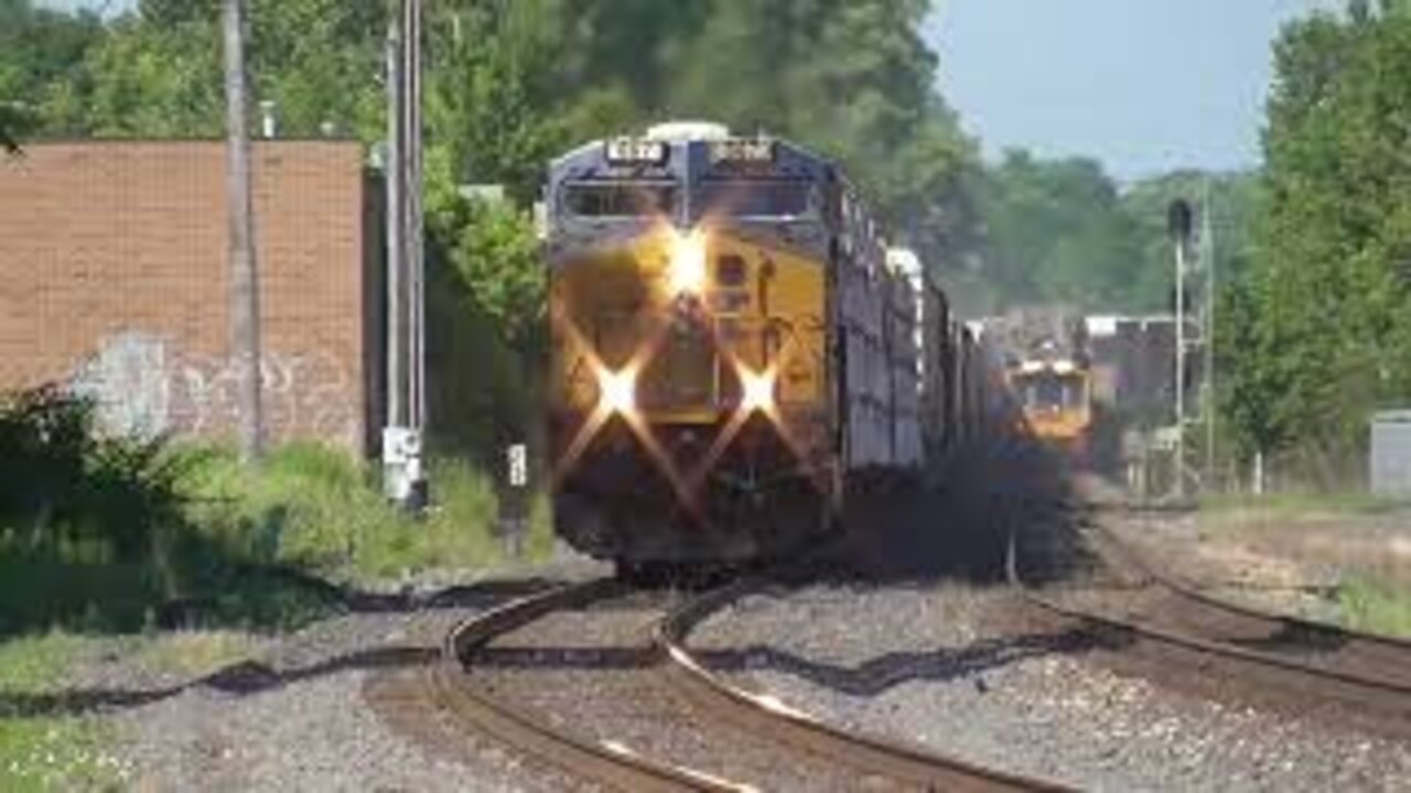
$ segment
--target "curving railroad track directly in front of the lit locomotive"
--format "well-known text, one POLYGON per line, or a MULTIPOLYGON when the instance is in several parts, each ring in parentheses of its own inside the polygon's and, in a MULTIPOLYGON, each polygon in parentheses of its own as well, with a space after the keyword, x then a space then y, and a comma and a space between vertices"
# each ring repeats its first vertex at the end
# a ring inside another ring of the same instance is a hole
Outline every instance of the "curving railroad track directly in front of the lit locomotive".
POLYGON ((663 604, 604 580, 526 597, 452 631, 435 690, 444 710, 476 731, 622 790, 1060 789, 824 724, 710 672, 686 643, 691 628, 755 587, 738 581, 696 597, 655 595, 677 600, 663 604), (653 610, 643 625, 636 611, 653 610), (614 646, 553 646, 601 629, 588 626, 594 615, 646 635, 614 638, 614 646), (543 626, 553 621, 559 628, 543 626), (588 667, 595 677, 556 677, 555 666, 571 669, 569 676, 588 667), (526 673, 532 667, 540 673, 526 673), (583 713, 564 713, 573 710, 583 713), (593 720, 595 713, 602 718, 593 720), (625 727, 618 735, 604 724, 625 727), (643 732, 642 724, 655 728, 643 732), (689 738, 673 742, 673 731, 689 738))

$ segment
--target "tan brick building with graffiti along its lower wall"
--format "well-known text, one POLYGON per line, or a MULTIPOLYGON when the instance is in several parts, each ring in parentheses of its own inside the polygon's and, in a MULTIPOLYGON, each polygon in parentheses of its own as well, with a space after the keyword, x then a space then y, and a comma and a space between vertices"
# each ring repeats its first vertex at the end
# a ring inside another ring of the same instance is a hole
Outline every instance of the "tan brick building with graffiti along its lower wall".
MULTIPOLYGON (((220 141, 0 157, 0 391, 66 384, 121 430, 230 436, 220 141)), ((253 147, 268 437, 357 452, 380 426, 377 190, 349 141, 253 147)))

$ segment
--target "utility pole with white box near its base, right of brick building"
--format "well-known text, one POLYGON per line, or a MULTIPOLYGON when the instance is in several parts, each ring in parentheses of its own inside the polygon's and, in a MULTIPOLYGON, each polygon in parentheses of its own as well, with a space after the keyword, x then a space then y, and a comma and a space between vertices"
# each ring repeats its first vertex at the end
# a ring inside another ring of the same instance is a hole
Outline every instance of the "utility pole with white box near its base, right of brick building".
POLYGON ((422 222, 422 3, 394 0, 387 34, 387 423, 382 484, 426 505, 426 323, 422 222))

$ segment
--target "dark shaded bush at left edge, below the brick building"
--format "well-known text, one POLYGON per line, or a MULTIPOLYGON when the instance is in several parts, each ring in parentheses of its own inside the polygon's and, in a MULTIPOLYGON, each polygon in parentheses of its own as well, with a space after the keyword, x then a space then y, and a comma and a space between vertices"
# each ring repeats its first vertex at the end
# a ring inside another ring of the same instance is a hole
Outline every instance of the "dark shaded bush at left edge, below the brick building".
POLYGON ((106 437, 87 404, 52 392, 3 406, 0 635, 130 631, 188 611, 255 625, 310 614, 317 593, 253 567, 240 538, 190 522, 185 480, 202 461, 106 437))

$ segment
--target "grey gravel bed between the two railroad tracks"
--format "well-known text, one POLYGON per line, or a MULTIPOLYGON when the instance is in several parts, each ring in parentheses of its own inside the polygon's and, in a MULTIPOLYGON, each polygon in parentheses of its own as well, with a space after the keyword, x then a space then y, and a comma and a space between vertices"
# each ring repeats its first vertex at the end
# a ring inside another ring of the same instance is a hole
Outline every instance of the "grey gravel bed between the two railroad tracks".
POLYGON ((1411 786, 1411 746, 1116 674, 1074 636, 1016 632, 1003 588, 811 587, 693 635, 706 662, 835 724, 1105 789, 1411 786))

